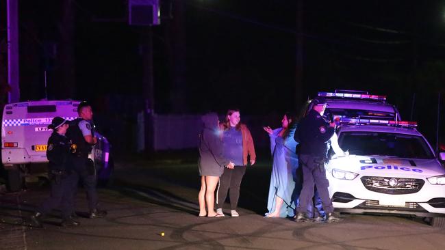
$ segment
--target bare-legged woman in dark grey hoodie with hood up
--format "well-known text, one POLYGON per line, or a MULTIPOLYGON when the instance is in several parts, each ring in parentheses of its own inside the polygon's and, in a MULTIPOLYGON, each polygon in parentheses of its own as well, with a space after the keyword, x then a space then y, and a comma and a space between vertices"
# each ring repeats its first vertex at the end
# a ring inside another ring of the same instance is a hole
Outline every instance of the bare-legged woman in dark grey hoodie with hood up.
POLYGON ((199 134, 199 176, 201 190, 199 191, 199 216, 219 217, 214 210, 215 189, 224 167, 232 167, 233 163, 223 156, 223 143, 218 130, 218 115, 207 113, 201 117, 203 130, 199 134), (207 203, 207 211, 205 204, 207 203))

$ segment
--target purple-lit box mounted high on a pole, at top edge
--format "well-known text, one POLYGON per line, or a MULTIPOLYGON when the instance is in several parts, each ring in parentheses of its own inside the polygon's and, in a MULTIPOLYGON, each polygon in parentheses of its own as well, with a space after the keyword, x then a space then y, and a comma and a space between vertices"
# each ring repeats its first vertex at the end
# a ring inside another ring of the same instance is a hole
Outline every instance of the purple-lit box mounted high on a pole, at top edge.
POLYGON ((129 0, 128 23, 138 26, 160 25, 159 0, 129 0))

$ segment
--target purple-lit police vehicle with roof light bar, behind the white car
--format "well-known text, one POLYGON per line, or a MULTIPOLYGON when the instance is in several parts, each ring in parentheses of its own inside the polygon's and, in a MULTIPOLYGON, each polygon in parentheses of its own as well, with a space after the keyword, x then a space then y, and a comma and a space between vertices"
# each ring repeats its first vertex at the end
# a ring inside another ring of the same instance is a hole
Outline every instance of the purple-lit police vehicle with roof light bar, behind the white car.
POLYGON ((339 90, 335 92, 318 92, 326 99, 325 114, 333 119, 340 117, 377 117, 380 120, 401 120, 397 108, 387 103, 386 96, 369 94, 359 90, 339 90))

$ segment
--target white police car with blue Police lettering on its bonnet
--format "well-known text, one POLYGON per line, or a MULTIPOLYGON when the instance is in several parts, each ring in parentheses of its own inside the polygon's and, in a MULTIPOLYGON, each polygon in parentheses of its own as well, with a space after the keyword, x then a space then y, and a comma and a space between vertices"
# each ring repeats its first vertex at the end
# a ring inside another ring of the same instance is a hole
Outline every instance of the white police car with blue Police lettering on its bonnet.
POLYGON ((416 123, 341 122, 338 142, 350 155, 333 156, 326 167, 335 210, 406 214, 445 226, 445 168, 416 123))

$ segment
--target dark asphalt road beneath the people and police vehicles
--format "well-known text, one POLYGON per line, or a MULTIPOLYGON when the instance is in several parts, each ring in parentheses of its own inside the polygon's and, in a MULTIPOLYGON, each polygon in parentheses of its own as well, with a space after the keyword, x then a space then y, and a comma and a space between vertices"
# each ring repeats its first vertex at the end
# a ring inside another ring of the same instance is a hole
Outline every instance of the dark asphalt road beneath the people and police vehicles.
MULTIPOLYGON (((58 212, 45 228, 29 227, 32 209, 48 186, 0 195, 0 249, 443 249, 445 230, 421 219, 342 214, 341 223, 266 219, 264 195, 270 168, 249 169, 240 217, 197 217, 198 178, 193 163, 131 161, 118 164, 114 185, 99 189, 103 219, 80 218, 59 226, 58 212), (164 232, 164 236, 162 236, 164 232)), ((86 212, 79 192, 77 212, 86 212)), ((227 210, 228 212, 228 210, 227 210)))

